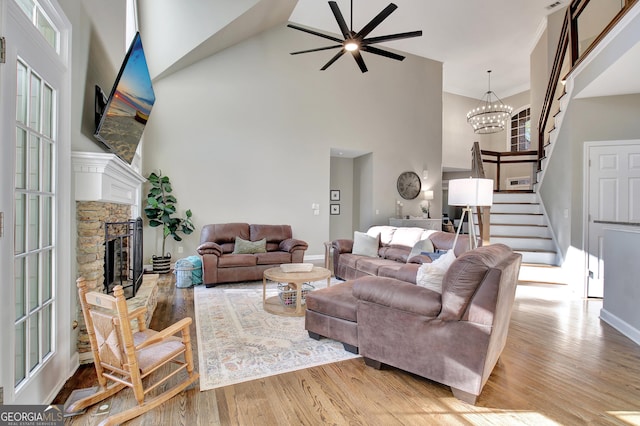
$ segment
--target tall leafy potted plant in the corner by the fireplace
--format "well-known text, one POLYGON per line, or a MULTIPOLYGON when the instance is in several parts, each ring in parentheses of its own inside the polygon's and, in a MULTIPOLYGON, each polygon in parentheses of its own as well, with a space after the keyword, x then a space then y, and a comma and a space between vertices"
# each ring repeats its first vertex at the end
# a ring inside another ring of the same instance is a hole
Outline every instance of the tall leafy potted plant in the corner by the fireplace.
POLYGON ((171 194, 173 189, 169 177, 163 176, 162 172, 152 172, 148 179, 151 187, 144 213, 149 219, 149 226, 162 227, 162 253, 152 257, 153 272, 166 274, 171 270, 171 253, 165 252, 167 237, 172 236, 174 240, 182 241, 178 232, 189 235, 195 228, 191 222, 191 210, 185 212, 184 218, 175 216, 177 200, 171 194))

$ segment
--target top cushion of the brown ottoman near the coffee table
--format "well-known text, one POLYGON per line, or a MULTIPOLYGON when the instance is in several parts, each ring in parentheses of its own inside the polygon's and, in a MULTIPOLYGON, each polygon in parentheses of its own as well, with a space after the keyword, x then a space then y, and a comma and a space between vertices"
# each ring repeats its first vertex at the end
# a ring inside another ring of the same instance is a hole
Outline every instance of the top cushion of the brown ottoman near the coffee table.
POLYGON ((353 281, 334 284, 307 294, 307 310, 356 322, 358 301, 352 294, 353 281))

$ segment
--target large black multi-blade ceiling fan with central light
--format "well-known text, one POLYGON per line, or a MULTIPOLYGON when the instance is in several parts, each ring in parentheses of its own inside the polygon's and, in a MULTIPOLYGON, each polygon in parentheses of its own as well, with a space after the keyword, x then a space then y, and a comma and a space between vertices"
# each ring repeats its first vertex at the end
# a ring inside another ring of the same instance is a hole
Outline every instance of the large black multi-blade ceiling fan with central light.
POLYGON ((323 34, 321 32, 310 30, 308 28, 300 27, 294 24, 287 25, 290 28, 303 31, 305 33, 313 34, 318 37, 326 38, 338 43, 331 46, 318 47, 316 49, 291 52, 292 55, 299 55, 301 53, 318 52, 321 50, 340 48, 340 51, 336 53, 336 55, 333 58, 331 58, 329 62, 325 64, 325 66, 321 68, 322 71, 329 68, 331 64, 337 61, 342 55, 345 54, 345 52, 351 52, 351 55, 353 55, 353 59, 355 59, 356 63, 360 67, 360 71, 362 71, 363 73, 367 72, 368 70, 367 70, 366 64, 364 63, 364 59, 362 59, 362 55, 360 53, 361 51, 373 53, 374 55, 384 56, 386 58, 395 59, 397 61, 402 61, 404 59, 404 56, 398 55, 393 52, 389 52, 387 50, 379 49, 372 45, 377 43, 382 43, 385 41, 390 41, 390 40, 420 37, 422 35, 422 31, 410 31, 406 33, 398 33, 398 34, 390 34, 390 35, 380 36, 380 37, 366 38, 371 31, 373 31, 378 25, 380 25, 382 21, 384 21, 389 15, 391 15, 391 13, 394 10, 398 8, 398 6, 396 6, 393 3, 390 3, 389 6, 385 7, 382 10, 382 12, 378 13, 378 15, 376 15, 371 21, 369 21, 367 25, 362 27, 362 29, 358 32, 353 31, 353 0, 351 0, 351 28, 347 27, 347 23, 345 22, 344 17, 340 12, 340 8, 338 7, 338 4, 335 1, 330 1, 329 7, 331 8, 331 11, 333 12, 333 16, 335 16, 336 21, 338 22, 338 27, 340 27, 340 32, 342 33, 342 36, 344 37, 344 39, 339 39, 337 37, 333 37, 328 34, 323 34))

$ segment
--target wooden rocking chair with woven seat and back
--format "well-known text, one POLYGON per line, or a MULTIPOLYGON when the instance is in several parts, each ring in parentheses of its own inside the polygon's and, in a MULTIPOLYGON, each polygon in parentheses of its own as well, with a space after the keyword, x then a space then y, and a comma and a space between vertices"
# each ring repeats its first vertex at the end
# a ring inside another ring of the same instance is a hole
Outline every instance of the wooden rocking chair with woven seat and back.
POLYGON ((122 286, 114 287, 113 296, 87 291, 84 278, 77 280, 77 286, 100 389, 70 405, 67 412, 81 411, 129 387, 133 389, 138 405, 112 414, 100 423, 120 424, 158 407, 198 380, 198 373, 193 369, 189 335, 191 318, 184 318, 162 331, 150 330, 145 323, 145 307, 128 312, 122 286), (137 332, 132 332, 133 319, 138 322, 137 332), (181 338, 175 336, 178 333, 181 338), (145 380, 147 387, 143 385, 143 379, 168 363, 178 367, 167 367, 170 371, 163 377, 157 376, 164 370, 145 380), (182 370, 187 373, 184 380, 145 398, 148 392, 182 370))

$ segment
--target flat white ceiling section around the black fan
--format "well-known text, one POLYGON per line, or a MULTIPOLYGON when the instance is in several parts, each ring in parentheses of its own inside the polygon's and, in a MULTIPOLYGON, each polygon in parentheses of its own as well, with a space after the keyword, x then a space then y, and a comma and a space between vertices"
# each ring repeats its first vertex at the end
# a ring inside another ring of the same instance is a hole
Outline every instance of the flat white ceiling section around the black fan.
MULTIPOLYGON (((354 31, 390 3, 390 0, 336 1, 347 23, 351 20, 353 2, 354 31)), ((487 90, 487 70, 493 71, 491 89, 500 97, 529 89, 529 56, 544 29, 546 16, 563 9, 568 0, 561 0, 553 8, 548 6, 557 3, 556 0, 393 0, 393 3, 398 9, 370 36, 422 30, 422 37, 381 46, 442 62, 444 91, 479 98, 487 90)), ((290 21, 340 33, 326 0, 298 0, 290 21)), ((331 44, 312 35, 300 37, 309 39, 309 48, 331 44)), ((319 67, 334 55, 332 51, 310 54, 318 56, 319 67)), ((363 54, 365 60, 366 55, 363 54)))

